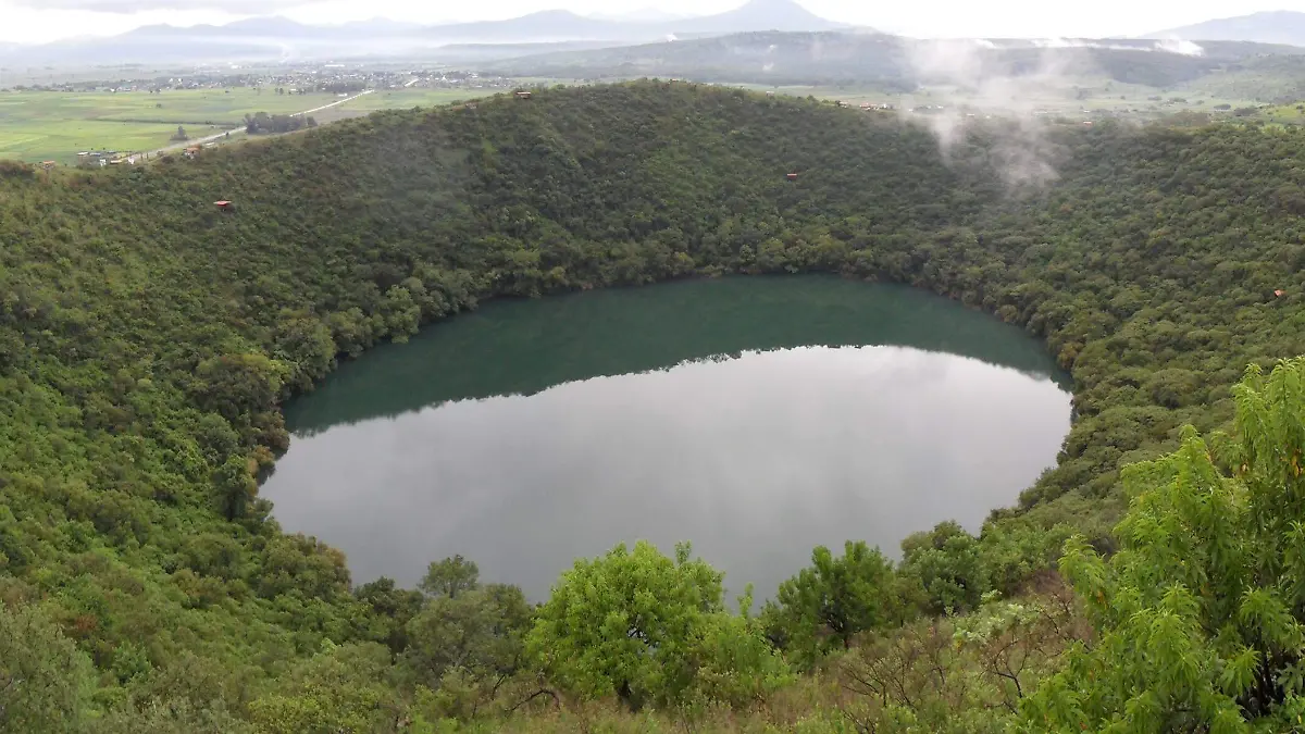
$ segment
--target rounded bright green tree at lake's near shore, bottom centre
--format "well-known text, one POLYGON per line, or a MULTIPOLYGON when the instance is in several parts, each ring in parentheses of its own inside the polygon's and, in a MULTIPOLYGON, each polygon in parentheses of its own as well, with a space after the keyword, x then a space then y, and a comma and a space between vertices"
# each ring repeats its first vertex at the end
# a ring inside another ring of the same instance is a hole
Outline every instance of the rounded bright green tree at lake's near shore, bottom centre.
POLYGON ((578 560, 540 607, 527 649, 557 686, 630 708, 762 697, 787 666, 746 615, 724 611, 722 573, 651 543, 578 560))

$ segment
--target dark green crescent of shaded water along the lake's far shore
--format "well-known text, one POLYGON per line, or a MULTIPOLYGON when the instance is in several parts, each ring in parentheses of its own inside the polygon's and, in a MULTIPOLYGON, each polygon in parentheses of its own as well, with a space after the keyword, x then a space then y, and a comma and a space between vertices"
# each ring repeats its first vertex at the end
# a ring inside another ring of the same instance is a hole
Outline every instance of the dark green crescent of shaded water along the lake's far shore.
POLYGON ((450 400, 817 345, 914 346, 1069 387, 1037 340, 930 293, 821 276, 740 277, 492 302, 342 364, 286 418, 296 435, 311 435, 450 400))

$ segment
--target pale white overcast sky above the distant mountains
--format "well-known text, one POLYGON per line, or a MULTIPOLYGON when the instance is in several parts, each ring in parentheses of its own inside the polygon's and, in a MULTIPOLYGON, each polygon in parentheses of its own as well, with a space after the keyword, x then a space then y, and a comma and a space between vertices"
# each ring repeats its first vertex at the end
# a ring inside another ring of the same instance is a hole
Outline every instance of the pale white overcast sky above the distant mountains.
MULTIPOLYGON (((834 21, 919 37, 1104 37, 1257 10, 1302 10, 1305 0, 800 0, 834 21)), ((330 24, 388 17, 441 22, 499 20, 534 10, 619 13, 655 7, 684 14, 728 10, 743 0, 0 0, 0 40, 38 43, 78 35, 111 35, 149 24, 222 24, 279 13, 330 24)))

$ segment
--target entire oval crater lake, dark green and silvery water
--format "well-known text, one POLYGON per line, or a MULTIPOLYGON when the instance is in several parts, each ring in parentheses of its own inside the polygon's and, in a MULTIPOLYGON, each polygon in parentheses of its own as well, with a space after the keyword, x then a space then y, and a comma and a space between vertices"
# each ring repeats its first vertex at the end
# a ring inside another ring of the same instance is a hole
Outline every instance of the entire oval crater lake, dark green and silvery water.
POLYGON ((547 596, 577 556, 688 539, 770 594, 816 545, 977 529, 1054 462, 1036 340, 928 293, 727 278, 493 302, 346 363, 286 410, 261 492, 355 582, 461 552, 547 596))

